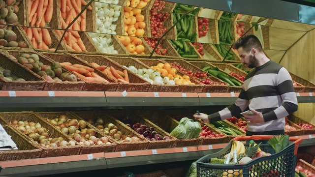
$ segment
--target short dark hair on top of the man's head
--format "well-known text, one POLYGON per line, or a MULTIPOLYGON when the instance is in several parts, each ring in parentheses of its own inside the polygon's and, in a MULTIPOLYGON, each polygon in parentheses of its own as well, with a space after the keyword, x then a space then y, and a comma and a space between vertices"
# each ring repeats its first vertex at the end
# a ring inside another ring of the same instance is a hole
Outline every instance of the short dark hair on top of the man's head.
POLYGON ((241 37, 233 45, 234 49, 239 49, 240 47, 243 47, 243 50, 246 52, 249 52, 252 48, 257 49, 259 52, 262 51, 262 46, 259 39, 252 34, 241 37))

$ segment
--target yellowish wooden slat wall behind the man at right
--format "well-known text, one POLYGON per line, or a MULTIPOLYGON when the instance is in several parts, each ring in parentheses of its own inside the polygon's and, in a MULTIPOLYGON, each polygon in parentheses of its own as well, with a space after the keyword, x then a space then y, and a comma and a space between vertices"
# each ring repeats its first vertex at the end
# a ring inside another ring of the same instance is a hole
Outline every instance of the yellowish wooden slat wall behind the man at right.
MULTIPOLYGON (((286 52, 282 62, 287 70, 315 83, 315 29, 308 32, 290 50, 286 52)), ((315 123, 315 103, 301 103, 294 113, 299 118, 315 123)))

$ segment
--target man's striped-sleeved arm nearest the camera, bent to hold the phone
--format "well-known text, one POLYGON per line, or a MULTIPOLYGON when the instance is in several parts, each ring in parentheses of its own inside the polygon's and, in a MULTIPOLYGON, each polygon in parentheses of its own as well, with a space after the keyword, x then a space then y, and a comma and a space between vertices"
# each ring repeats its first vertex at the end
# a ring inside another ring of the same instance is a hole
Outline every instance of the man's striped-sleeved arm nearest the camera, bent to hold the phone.
POLYGON ((297 98, 292 79, 289 72, 284 67, 279 70, 276 84, 283 103, 274 111, 262 115, 265 122, 284 118, 297 110, 297 98))

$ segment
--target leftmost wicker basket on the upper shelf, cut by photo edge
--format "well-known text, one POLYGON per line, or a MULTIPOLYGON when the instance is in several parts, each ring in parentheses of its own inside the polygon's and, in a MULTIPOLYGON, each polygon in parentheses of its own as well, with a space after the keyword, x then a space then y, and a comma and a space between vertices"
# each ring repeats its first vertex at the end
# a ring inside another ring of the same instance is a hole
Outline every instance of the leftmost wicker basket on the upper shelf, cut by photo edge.
POLYGON ((12 75, 25 80, 5 81, 0 78, 1 90, 43 90, 45 86, 45 82, 37 74, 33 74, 20 63, 7 59, 3 54, 0 54, 0 67, 11 70, 12 75))

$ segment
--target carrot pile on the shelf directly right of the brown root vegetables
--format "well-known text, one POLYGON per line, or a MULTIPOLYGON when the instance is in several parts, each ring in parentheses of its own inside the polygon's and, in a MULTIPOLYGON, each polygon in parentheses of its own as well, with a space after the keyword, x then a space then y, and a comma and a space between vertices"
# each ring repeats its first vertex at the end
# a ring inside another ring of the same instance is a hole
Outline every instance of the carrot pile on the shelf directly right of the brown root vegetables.
POLYGON ((83 81, 91 83, 109 83, 106 79, 96 74, 94 72, 94 69, 89 66, 84 66, 81 64, 72 64, 70 62, 61 62, 60 64, 69 71, 72 71, 83 81))

